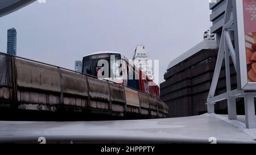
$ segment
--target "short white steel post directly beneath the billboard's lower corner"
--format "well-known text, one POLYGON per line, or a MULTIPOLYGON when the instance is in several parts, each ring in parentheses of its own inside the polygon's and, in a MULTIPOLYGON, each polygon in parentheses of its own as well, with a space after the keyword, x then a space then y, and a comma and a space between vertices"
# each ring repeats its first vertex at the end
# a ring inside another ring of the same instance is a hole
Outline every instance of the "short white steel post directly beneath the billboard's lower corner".
POLYGON ((246 128, 256 128, 254 96, 245 95, 245 122, 246 128))

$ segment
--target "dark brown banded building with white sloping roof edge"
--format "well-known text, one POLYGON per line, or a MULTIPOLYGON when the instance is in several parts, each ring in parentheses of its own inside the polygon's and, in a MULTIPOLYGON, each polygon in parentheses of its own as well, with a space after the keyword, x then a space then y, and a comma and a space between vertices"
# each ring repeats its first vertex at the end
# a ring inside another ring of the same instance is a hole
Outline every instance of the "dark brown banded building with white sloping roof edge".
POLYGON ((216 40, 204 40, 171 61, 160 83, 170 117, 203 114, 217 57, 216 40))

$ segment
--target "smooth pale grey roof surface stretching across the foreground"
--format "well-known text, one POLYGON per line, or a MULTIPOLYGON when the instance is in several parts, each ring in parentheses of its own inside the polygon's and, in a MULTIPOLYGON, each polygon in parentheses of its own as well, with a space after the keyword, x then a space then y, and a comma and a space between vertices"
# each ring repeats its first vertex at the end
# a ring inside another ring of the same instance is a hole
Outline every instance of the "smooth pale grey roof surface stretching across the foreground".
POLYGON ((99 122, 0 122, 0 142, 256 143, 245 116, 204 114, 187 118, 99 122), (214 139, 216 141, 214 141, 214 139), (212 141, 213 140, 213 141, 212 141))

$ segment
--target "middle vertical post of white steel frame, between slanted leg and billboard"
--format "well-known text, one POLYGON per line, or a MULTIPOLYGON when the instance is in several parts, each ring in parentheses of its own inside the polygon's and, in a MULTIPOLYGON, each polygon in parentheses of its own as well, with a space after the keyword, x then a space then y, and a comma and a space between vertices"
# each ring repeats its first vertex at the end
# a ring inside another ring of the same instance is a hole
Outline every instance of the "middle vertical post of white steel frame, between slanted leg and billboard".
MULTIPOLYGON (((226 91, 231 91, 231 82, 230 82, 230 66, 229 66, 229 48, 228 45, 226 45, 226 39, 225 40, 225 69, 226 69, 226 91)), ((228 102, 228 116, 229 119, 237 119, 237 107, 236 107, 236 98, 227 99, 228 102)))

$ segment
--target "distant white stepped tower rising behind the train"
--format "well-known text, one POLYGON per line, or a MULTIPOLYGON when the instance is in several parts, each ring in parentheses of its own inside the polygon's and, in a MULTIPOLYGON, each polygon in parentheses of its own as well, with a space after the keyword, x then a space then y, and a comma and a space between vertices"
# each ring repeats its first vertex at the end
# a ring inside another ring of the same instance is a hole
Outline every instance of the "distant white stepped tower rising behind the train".
POLYGON ((134 65, 141 69, 150 79, 154 80, 152 61, 148 60, 148 52, 144 45, 137 45, 133 55, 134 65))

